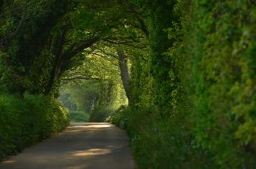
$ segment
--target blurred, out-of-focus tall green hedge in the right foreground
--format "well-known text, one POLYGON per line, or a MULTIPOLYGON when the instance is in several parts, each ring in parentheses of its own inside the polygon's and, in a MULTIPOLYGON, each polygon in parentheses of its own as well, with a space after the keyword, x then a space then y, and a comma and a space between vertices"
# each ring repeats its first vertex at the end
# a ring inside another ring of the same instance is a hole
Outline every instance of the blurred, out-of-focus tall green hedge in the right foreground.
POLYGON ((194 1, 182 19, 183 86, 194 141, 222 168, 256 163, 255 7, 249 1, 194 1))

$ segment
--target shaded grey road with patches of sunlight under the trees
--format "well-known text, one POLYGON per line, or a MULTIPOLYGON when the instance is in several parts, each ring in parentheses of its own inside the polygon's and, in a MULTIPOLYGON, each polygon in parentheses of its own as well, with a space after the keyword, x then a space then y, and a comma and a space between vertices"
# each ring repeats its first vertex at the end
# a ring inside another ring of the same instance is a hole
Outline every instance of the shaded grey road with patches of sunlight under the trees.
POLYGON ((110 123, 71 123, 67 129, 0 163, 1 169, 133 169, 124 130, 110 123))

